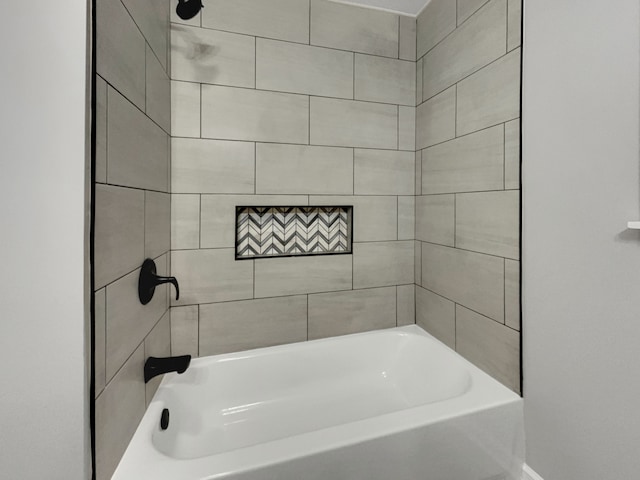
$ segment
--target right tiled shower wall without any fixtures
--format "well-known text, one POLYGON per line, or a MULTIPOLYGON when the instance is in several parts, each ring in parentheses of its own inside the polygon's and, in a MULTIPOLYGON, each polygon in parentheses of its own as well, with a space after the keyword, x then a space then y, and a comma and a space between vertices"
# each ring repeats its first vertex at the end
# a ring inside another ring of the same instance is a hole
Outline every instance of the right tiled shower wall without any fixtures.
POLYGON ((417 22, 416 321, 520 391, 521 0, 417 22))

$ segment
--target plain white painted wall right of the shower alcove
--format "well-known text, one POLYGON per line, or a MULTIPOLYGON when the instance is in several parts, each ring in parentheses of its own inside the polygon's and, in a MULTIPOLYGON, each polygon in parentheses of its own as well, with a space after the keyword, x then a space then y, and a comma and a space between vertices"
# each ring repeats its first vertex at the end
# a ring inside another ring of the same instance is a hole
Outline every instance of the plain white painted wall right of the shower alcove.
POLYGON ((545 480, 640 476, 640 4, 525 2, 524 395, 545 480))

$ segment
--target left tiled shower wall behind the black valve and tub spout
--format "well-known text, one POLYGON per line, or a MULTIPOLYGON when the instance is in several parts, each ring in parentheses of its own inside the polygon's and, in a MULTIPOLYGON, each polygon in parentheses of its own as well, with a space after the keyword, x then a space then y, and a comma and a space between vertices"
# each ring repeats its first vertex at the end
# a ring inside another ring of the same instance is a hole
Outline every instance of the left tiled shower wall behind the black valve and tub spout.
POLYGON ((158 380, 149 355, 170 354, 166 286, 137 298, 139 267, 168 273, 171 84, 169 2, 97 1, 95 383, 97 478, 111 478, 158 380))

